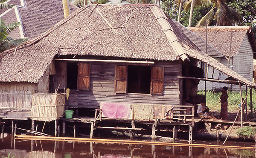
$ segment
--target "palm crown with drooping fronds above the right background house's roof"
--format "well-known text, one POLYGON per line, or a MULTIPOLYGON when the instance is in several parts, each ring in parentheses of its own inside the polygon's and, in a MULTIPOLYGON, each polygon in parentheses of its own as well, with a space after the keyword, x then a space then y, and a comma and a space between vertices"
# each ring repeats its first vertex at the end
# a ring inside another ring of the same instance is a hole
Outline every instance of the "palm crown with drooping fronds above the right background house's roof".
MULTIPOLYGON (((189 0, 184 3, 185 10, 192 8, 190 7, 192 1, 189 0)), ((212 20, 216 20, 216 26, 233 26, 236 23, 243 23, 241 15, 234 9, 228 7, 225 4, 225 0, 195 0, 195 6, 212 6, 212 9, 198 21, 196 26, 205 26, 206 20, 209 23, 212 20)))

